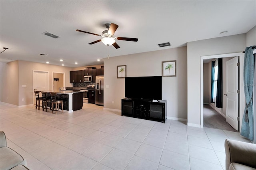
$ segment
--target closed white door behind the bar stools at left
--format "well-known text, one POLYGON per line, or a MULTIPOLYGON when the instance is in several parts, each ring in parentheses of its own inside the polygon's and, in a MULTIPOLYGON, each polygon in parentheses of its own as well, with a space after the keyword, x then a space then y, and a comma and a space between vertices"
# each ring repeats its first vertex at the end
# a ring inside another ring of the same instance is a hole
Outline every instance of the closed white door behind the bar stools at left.
POLYGON ((34 71, 33 70, 33 103, 36 103, 36 97, 34 93, 36 91, 48 91, 49 90, 49 72, 48 71, 34 71))

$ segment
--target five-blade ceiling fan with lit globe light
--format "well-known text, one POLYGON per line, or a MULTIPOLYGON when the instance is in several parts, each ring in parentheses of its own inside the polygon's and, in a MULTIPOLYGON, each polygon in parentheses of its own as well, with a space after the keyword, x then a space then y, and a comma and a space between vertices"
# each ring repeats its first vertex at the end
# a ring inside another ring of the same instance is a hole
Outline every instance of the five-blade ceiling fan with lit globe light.
POLYGON ((86 32, 86 31, 82 31, 82 30, 76 30, 79 32, 84 32, 87 34, 92 34, 95 36, 99 36, 99 37, 103 37, 100 40, 97 40, 95 42, 91 42, 88 44, 94 44, 97 42, 103 42, 105 45, 113 45, 116 49, 120 48, 119 45, 117 45, 115 40, 124 40, 124 41, 132 41, 132 42, 137 42, 138 38, 125 38, 125 37, 115 37, 114 33, 116 32, 116 29, 118 28, 118 25, 111 23, 111 24, 105 24, 106 28, 108 28, 108 30, 105 30, 102 32, 102 35, 100 34, 94 34, 94 33, 90 33, 90 32, 86 32))

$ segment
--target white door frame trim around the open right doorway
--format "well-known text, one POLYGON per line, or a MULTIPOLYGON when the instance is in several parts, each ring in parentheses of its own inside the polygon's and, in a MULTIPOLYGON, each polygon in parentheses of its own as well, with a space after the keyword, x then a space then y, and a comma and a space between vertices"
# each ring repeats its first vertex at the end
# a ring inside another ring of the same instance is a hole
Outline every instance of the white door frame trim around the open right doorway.
POLYGON ((218 54, 218 55, 206 55, 200 56, 200 127, 204 127, 204 59, 214 59, 214 58, 225 58, 225 57, 237 57, 239 56, 239 87, 240 87, 240 95, 239 95, 239 131, 241 131, 242 127, 242 116, 245 108, 245 96, 244 96, 244 53, 228 53, 228 54, 218 54))

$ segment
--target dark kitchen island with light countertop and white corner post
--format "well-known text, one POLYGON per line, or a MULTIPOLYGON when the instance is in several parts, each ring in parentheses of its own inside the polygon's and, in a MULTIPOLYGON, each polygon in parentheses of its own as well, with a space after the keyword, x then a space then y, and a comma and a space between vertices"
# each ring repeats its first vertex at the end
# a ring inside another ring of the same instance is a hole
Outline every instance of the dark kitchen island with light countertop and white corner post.
POLYGON ((71 113, 82 109, 83 107, 83 92, 73 90, 62 91, 46 91, 46 93, 57 93, 58 100, 63 100, 63 109, 71 113))

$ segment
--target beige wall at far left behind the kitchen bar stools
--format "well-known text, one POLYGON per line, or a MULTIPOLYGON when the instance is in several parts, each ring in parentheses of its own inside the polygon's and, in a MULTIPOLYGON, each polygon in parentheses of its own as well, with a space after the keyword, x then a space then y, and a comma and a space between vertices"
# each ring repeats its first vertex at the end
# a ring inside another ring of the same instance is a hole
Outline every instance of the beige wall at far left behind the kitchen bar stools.
POLYGON ((1 102, 18 106, 33 104, 32 70, 49 71, 49 90, 52 90, 53 72, 65 73, 66 87, 72 86, 69 83, 69 71, 72 70, 70 67, 21 60, 1 63, 1 102), (26 85, 26 87, 22 87, 22 85, 26 85), (22 98, 25 100, 22 101, 22 98))

